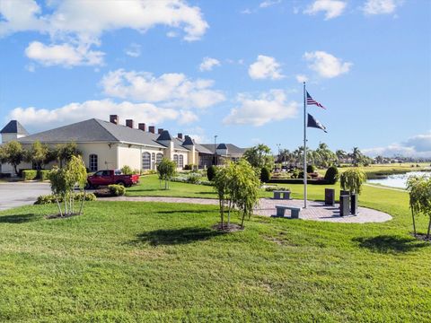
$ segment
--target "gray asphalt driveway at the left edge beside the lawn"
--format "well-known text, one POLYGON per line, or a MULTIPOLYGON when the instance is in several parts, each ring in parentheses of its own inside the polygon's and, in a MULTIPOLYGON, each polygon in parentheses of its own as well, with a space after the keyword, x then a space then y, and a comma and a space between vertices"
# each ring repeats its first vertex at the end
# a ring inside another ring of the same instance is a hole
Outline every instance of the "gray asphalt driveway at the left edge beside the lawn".
POLYGON ((0 211, 21 205, 32 205, 38 196, 50 192, 48 183, 0 183, 0 211))

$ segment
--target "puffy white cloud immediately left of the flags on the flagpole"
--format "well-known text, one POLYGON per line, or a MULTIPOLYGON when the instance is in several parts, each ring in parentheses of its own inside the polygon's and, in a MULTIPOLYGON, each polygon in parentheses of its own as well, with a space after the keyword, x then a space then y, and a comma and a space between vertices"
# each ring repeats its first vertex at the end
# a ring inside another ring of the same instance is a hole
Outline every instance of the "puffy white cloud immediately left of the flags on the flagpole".
POLYGON ((224 124, 263 126, 271 121, 279 121, 296 116, 299 104, 287 101, 283 90, 270 90, 252 98, 246 94, 239 94, 239 107, 231 109, 224 118, 224 124))

